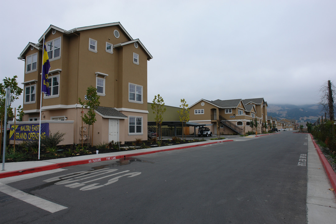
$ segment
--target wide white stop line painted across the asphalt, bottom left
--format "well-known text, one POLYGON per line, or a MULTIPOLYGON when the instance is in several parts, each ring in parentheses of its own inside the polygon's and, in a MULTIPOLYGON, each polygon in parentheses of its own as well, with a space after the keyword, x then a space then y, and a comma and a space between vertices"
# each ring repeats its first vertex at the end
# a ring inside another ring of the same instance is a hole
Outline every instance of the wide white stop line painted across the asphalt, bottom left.
POLYGON ((20 191, 3 183, 0 183, 0 191, 51 213, 67 209, 67 207, 57 205, 51 201, 36 197, 34 195, 20 191))

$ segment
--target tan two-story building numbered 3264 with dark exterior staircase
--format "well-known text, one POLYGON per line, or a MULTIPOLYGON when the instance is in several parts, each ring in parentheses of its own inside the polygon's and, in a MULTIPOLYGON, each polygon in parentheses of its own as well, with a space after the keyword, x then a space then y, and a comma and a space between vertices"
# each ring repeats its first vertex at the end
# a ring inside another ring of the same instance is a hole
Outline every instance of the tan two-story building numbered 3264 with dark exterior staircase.
MULTIPOLYGON (((190 122, 208 126, 213 134, 244 134, 252 131, 251 120, 257 120, 258 133, 265 131, 261 123, 267 122, 267 102, 264 98, 232 99, 232 100, 205 100, 201 99, 191 105, 190 122), (220 121, 218 129, 217 120, 220 121)), ((197 131, 197 130, 196 130, 197 131)), ((193 133, 194 129, 190 129, 193 133)))

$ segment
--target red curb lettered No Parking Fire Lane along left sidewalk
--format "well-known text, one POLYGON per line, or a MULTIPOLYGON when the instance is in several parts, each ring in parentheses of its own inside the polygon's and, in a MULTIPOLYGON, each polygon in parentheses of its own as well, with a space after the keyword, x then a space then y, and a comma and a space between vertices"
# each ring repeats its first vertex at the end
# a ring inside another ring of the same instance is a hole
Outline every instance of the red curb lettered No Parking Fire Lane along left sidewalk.
POLYGON ((220 142, 229 142, 229 141, 233 141, 233 140, 218 140, 217 142, 207 142, 207 143, 200 143, 200 144, 196 144, 196 145, 186 145, 186 146, 180 146, 180 147, 175 147, 175 148, 167 148, 167 149, 148 151, 148 152, 135 152, 135 153, 125 154, 125 155, 101 157, 101 158, 90 159, 90 160, 78 160, 78 161, 71 161, 71 162, 64 162, 64 163, 56 163, 56 164, 51 164, 51 165, 47 165, 47 166, 34 167, 34 168, 29 168, 29 169, 24 169, 24 170, 16 170, 16 171, 9 171, 9 172, 5 172, 5 173, 1 173, 0 174, 0 179, 5 178, 5 177, 12 177, 12 176, 18 176, 18 175, 23 175, 23 174, 36 173, 36 172, 41 172, 41 171, 46 171, 46 170, 54 170, 54 169, 63 168, 63 167, 70 167, 70 166, 76 166, 76 165, 82 165, 82 164, 88 164, 88 163, 95 163, 95 162, 101 162, 101 161, 117 160, 117 159, 127 158, 127 157, 131 157, 131 156, 136 156, 136 155, 146 155, 146 154, 152 154, 152 153, 156 153, 156 152, 164 152, 164 151, 171 151, 171 150, 177 150, 177 149, 192 148, 192 147, 197 147, 197 146, 210 145, 210 144, 216 144, 216 143, 220 143, 220 142))

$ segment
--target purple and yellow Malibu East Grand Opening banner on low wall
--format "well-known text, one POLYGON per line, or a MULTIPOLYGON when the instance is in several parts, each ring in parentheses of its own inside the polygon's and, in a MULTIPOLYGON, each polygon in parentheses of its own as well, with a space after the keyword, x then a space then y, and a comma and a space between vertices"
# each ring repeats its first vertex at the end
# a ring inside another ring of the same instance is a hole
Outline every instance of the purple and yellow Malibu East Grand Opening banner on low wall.
MULTIPOLYGON (((15 128, 15 140, 17 141, 34 141, 39 140, 39 124, 23 124, 23 125, 11 125, 9 132, 9 140, 14 140, 14 128, 15 128)), ((49 123, 41 124, 41 137, 49 136, 49 123)))

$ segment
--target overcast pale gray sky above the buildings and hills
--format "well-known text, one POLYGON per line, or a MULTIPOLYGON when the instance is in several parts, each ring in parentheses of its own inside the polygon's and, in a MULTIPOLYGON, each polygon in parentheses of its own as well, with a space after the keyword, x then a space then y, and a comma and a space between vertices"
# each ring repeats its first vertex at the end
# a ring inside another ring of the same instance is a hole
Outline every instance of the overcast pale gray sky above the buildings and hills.
POLYGON ((17 75, 23 82, 17 57, 49 25, 70 30, 113 22, 154 57, 148 102, 160 94, 171 106, 181 98, 189 105, 259 97, 314 104, 321 85, 336 80, 335 0, 19 0, 0 10, 1 81, 17 75))

